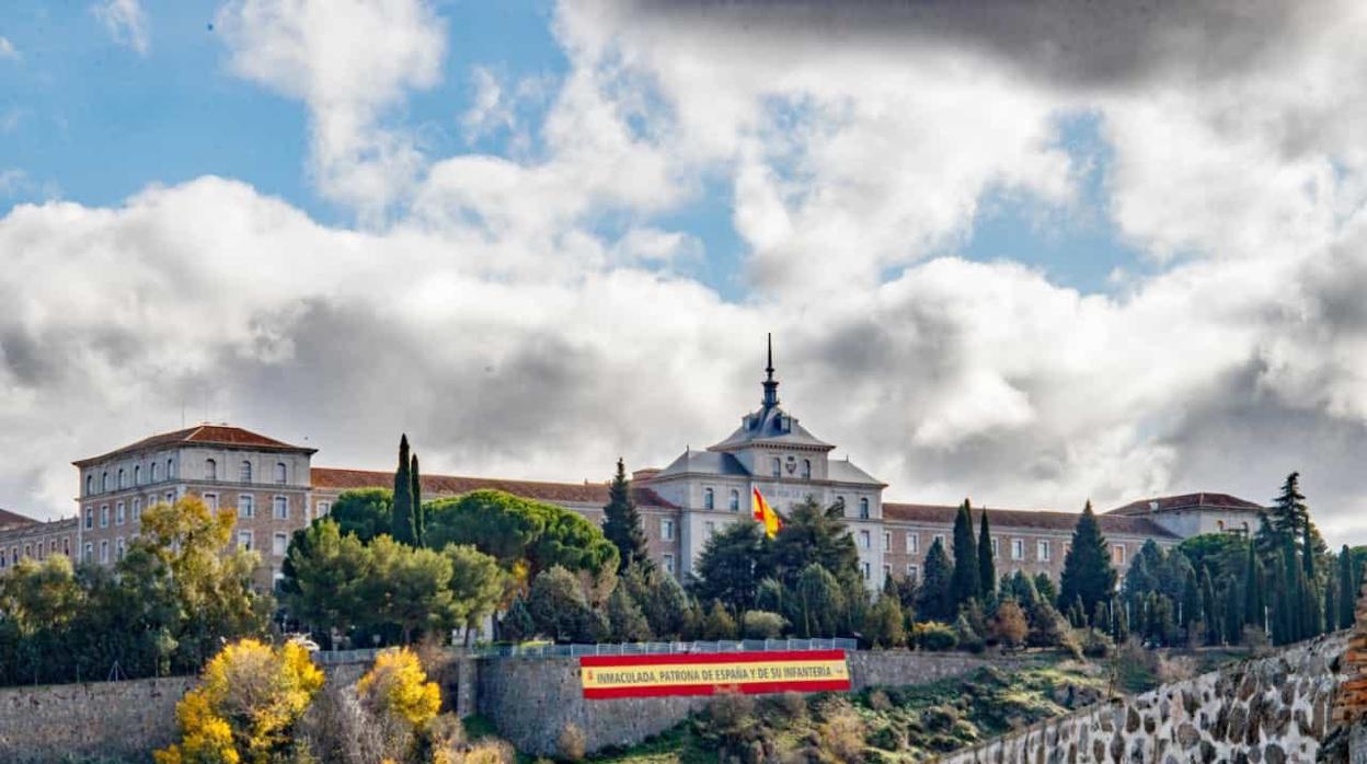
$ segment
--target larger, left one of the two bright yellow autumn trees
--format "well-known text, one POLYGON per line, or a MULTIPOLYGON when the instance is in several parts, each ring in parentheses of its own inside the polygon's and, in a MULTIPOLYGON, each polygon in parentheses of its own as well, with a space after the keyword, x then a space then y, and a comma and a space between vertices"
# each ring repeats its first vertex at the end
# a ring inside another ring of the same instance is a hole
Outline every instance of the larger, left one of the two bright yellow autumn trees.
POLYGON ((209 660, 200 686, 176 704, 180 742, 153 757, 157 764, 280 761, 321 687, 323 671, 301 645, 234 642, 209 660))

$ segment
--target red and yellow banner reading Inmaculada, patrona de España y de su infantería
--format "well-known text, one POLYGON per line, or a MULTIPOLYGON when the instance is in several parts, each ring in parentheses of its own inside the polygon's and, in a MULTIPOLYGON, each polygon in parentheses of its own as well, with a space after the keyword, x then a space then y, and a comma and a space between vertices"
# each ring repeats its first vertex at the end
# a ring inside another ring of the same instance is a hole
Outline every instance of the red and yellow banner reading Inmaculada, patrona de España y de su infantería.
POLYGON ((845 651, 586 655, 580 681, 584 697, 593 700, 850 689, 845 651))

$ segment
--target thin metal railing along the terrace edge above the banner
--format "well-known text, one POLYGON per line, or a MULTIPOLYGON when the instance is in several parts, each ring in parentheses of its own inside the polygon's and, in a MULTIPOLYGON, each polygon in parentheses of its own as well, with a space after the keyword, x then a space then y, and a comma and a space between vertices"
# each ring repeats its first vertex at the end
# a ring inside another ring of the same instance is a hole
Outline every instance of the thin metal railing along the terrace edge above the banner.
MULTIPOLYGON (((481 645, 472 649, 451 648, 452 652, 476 657, 578 657, 581 655, 678 655, 718 652, 772 652, 772 651, 853 651, 856 640, 740 640, 716 642, 614 642, 585 645, 481 645)), ((323 664, 366 663, 375 660, 379 649, 319 651, 314 660, 323 664)))

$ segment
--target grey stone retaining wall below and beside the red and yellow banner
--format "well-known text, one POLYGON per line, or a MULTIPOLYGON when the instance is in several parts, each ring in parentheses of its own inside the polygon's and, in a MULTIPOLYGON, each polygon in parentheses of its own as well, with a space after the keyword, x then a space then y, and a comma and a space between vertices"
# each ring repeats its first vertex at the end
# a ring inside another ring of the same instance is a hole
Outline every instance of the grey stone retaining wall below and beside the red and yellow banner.
MULTIPOLYGON (((973 671, 988 661, 962 653, 850 652, 850 683, 920 685, 973 671)), ((584 731, 589 750, 632 745, 704 708, 707 697, 585 700, 573 657, 480 661, 477 705, 518 750, 556 753, 567 723, 584 731)))

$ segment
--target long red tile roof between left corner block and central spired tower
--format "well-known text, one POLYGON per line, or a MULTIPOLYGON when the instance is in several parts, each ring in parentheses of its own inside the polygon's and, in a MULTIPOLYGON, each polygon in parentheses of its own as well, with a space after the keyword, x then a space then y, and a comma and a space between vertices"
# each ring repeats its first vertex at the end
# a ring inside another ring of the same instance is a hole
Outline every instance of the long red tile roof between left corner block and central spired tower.
MULTIPOLYGON (((351 488, 392 488, 394 473, 375 470, 340 470, 313 467, 313 488, 347 491, 351 488)), ((459 496, 470 491, 492 488, 514 496, 550 503, 607 504, 607 482, 543 482, 536 480, 502 480, 496 477, 457 477, 424 474, 424 496, 459 496)), ((633 488, 633 499, 641 507, 678 508, 649 488, 633 488)))

